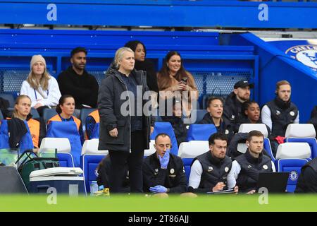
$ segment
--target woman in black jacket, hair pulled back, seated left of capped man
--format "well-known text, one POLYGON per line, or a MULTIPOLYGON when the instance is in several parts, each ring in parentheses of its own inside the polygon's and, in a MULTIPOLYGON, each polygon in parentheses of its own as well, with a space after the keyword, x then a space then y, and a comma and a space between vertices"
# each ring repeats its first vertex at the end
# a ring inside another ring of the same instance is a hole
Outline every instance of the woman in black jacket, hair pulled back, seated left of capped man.
POLYGON ((228 143, 230 143, 234 133, 230 121, 223 118, 223 100, 220 97, 209 97, 207 106, 208 113, 199 121, 199 124, 214 124, 219 133, 228 136, 228 143))

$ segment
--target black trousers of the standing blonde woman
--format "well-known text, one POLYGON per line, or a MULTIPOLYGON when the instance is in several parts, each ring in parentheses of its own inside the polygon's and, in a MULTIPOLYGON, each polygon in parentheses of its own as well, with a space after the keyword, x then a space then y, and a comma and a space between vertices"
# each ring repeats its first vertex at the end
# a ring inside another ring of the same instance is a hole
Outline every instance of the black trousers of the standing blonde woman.
MULTIPOLYGON (((144 135, 142 131, 131 133, 131 153, 129 151, 109 150, 111 160, 110 192, 122 193, 125 177, 125 164, 128 164, 130 191, 143 192, 142 163, 144 157, 144 135)), ((125 189, 126 191, 126 189, 125 189)))

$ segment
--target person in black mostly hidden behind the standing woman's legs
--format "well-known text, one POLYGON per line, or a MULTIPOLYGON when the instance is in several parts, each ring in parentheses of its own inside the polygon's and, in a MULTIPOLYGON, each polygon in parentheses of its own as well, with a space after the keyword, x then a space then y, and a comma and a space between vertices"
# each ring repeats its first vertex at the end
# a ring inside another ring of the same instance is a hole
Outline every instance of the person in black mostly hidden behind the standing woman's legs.
MULTIPOLYGON (((101 162, 99 162, 99 165, 97 166, 97 169, 96 169, 97 184, 99 187, 103 186, 104 189, 110 188, 110 184, 109 184, 110 170, 111 170, 111 161, 110 161, 110 156, 107 155, 101 160, 101 162)), ((125 165, 125 176, 123 179, 122 187, 124 192, 130 192, 128 165, 125 165)))

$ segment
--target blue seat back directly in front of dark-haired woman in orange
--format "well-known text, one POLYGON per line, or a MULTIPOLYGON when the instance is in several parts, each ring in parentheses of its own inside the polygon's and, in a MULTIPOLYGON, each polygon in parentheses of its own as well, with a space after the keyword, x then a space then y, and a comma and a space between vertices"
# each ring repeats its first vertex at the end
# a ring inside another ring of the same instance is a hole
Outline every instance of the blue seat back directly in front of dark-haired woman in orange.
POLYGON ((46 137, 68 138, 75 167, 80 166, 82 143, 75 121, 51 121, 47 126, 46 137))

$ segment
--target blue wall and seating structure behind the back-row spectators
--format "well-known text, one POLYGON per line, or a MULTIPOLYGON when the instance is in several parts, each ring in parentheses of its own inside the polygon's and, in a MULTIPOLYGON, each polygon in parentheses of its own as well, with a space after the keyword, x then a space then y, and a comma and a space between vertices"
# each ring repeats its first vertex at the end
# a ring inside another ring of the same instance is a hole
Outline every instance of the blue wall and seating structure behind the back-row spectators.
MULTIPOLYGON (((70 50, 77 46, 87 48, 87 71, 100 83, 116 49, 130 40, 144 42, 147 58, 154 61, 157 71, 168 51, 180 52, 201 98, 208 93, 228 95, 240 79, 258 82, 258 56, 254 55, 254 47, 220 45, 218 32, 9 29, 0 30, 0 92, 18 95, 30 71, 33 54, 42 54, 50 73, 57 77, 70 66, 70 50)), ((257 88, 252 95, 258 100, 257 88)))

